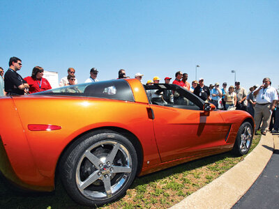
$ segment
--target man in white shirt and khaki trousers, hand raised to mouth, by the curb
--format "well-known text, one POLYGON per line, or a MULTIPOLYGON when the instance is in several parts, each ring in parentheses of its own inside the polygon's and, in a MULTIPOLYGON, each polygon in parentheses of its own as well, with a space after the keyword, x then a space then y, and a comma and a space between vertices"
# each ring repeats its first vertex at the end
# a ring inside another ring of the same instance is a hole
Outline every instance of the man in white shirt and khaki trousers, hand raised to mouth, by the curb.
POLYGON ((253 93, 256 97, 255 105, 255 134, 259 129, 259 125, 262 119, 261 132, 263 135, 266 134, 266 128, 269 127, 269 122, 271 118, 271 112, 276 107, 276 102, 278 100, 278 93, 276 88, 270 86, 271 79, 265 77, 262 81, 262 86, 259 86, 253 93))

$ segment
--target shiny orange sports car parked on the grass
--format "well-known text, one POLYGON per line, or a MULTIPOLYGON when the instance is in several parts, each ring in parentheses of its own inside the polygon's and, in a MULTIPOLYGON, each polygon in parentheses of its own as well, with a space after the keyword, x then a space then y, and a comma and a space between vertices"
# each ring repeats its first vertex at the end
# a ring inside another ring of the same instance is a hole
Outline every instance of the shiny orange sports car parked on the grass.
POLYGON ((20 187, 60 178, 85 206, 126 193, 135 176, 233 150, 248 153, 254 121, 174 84, 115 79, 0 98, 0 170, 20 187))

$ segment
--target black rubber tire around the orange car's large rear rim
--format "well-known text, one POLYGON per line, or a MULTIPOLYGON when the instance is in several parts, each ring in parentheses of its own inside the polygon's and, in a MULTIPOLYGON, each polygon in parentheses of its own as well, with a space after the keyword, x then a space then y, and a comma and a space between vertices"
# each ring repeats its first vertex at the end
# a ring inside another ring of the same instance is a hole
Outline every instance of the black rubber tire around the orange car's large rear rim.
POLYGON ((63 186, 74 201, 77 201, 77 203, 80 203, 84 206, 101 206, 119 199, 119 197, 123 196, 123 194, 126 193, 126 190, 133 183, 135 174, 137 173, 137 154, 133 144, 126 137, 123 137, 123 135, 119 133, 112 131, 91 132, 89 134, 85 134, 83 137, 80 137, 80 139, 75 141, 66 150, 66 153, 64 153, 62 157, 59 168, 63 186), (80 161, 80 157, 82 157, 86 149, 91 147, 93 144, 105 140, 116 141, 119 144, 125 146, 132 160, 132 171, 128 180, 126 180, 126 183, 118 192, 116 192, 116 194, 114 194, 109 199, 93 201, 91 199, 87 199, 86 196, 84 196, 77 188, 75 173, 77 170, 77 164, 80 161))

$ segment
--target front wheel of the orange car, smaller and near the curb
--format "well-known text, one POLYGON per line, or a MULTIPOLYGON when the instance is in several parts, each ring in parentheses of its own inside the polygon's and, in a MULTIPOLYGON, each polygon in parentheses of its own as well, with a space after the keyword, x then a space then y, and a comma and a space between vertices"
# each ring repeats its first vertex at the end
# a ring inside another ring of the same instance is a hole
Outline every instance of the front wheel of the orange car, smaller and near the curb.
POLYGON ((249 122, 242 123, 236 135, 232 152, 236 156, 246 155, 250 150, 253 137, 252 125, 249 122))

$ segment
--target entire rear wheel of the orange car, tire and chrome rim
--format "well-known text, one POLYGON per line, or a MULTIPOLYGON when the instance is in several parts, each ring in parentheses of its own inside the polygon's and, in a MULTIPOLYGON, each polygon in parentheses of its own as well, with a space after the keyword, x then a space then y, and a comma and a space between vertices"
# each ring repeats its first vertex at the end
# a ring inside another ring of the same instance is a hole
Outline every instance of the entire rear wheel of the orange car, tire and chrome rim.
POLYGON ((59 165, 63 186, 84 206, 102 206, 126 193, 137 172, 133 144, 110 130, 91 132, 73 143, 59 165))

